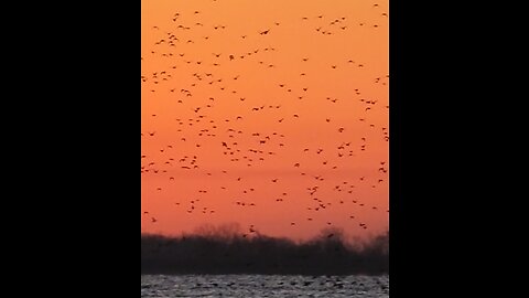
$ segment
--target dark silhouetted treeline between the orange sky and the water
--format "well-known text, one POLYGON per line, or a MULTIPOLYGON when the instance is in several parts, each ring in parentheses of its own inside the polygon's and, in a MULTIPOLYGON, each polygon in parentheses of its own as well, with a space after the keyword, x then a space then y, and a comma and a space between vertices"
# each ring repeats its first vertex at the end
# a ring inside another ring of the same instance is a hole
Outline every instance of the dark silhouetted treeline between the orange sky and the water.
POLYGON ((388 241, 386 233, 350 243, 338 228, 300 243, 241 234, 233 226, 179 237, 142 234, 141 274, 387 274, 388 241))

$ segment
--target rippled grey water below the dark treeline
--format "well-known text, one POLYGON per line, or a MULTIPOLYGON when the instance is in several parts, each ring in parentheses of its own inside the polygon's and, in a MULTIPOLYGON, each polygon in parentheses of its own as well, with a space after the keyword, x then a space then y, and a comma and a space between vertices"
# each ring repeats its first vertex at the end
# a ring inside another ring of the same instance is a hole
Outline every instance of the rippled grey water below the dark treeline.
POLYGON ((389 297, 389 276, 142 275, 141 297, 389 297))

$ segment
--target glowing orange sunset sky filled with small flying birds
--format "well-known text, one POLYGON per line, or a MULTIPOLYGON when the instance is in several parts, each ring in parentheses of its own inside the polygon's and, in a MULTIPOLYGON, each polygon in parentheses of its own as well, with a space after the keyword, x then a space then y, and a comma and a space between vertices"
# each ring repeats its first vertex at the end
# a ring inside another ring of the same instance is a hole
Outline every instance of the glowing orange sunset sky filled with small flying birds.
POLYGON ((387 0, 141 9, 142 232, 388 228, 387 0))

